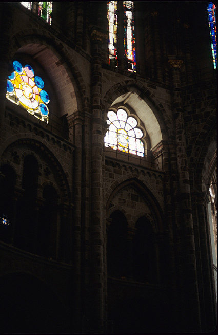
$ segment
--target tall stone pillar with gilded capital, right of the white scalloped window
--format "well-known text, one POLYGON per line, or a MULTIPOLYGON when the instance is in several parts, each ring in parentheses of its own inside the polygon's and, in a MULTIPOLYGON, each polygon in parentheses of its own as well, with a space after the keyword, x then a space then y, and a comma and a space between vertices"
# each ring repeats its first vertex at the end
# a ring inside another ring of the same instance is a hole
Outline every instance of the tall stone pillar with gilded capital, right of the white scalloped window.
POLYGON ((197 288, 194 232, 189 185, 188 161, 186 154, 185 126, 183 119, 180 68, 182 60, 169 59, 172 82, 172 106, 175 123, 176 156, 179 177, 180 221, 177 229, 179 249, 179 271, 181 278, 181 320, 183 331, 200 332, 200 306, 197 288), (186 322, 184 323, 184 320, 186 322))

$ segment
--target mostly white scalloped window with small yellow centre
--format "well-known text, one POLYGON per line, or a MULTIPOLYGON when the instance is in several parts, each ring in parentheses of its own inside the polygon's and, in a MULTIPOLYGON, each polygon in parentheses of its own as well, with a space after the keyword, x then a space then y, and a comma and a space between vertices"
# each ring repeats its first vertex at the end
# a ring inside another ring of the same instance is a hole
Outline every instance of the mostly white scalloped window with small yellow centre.
POLYGON ((136 127, 135 118, 129 117, 121 108, 117 113, 110 110, 107 124, 109 128, 105 135, 106 147, 144 157, 144 144, 140 140, 144 134, 140 128, 136 127))

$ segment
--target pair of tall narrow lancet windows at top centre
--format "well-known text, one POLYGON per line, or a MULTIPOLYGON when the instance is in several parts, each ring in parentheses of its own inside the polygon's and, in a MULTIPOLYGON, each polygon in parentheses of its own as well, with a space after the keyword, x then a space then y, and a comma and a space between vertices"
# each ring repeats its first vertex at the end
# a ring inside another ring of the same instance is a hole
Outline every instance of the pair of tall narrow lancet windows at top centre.
POLYGON ((117 21, 117 1, 108 2, 107 17, 108 17, 108 64, 112 66, 117 66, 118 60, 121 59, 121 57, 124 57, 126 59, 125 68, 131 72, 136 72, 133 1, 123 2, 122 12, 119 11, 118 14, 118 21, 117 21), (121 33, 118 33, 118 30, 121 33), (118 41, 118 43, 123 45, 122 55, 117 54, 118 35, 122 36, 123 39, 123 41, 118 41))

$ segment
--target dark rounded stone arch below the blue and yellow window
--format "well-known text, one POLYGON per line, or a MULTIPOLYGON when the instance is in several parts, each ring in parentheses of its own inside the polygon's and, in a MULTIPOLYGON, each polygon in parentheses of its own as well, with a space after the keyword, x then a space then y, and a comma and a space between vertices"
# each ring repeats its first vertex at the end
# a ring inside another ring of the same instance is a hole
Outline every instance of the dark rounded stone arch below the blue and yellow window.
POLYGON ((27 152, 33 152, 34 155, 38 157, 42 157, 45 161, 52 166, 52 170, 54 171, 58 187, 60 188, 60 195, 62 202, 67 204, 71 203, 71 192, 69 188, 69 183, 63 167, 61 163, 56 158, 55 152, 49 143, 45 140, 40 141, 37 136, 26 137, 25 134, 20 134, 21 138, 17 138, 17 136, 10 137, 5 143, 2 145, 2 150, 0 151, 0 157, 3 157, 11 148, 16 148, 18 146, 25 145, 27 147, 27 152), (45 143, 43 143, 45 142, 45 143))

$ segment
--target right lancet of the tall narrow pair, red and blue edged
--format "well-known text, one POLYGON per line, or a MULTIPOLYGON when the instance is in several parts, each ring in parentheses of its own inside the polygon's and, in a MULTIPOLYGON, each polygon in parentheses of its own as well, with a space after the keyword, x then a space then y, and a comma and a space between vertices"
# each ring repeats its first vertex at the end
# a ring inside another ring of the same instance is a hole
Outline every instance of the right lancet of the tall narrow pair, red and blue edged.
POLYGON ((135 72, 135 38, 133 1, 124 1, 124 54, 128 60, 128 70, 135 72))

